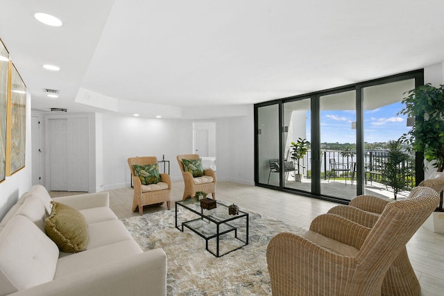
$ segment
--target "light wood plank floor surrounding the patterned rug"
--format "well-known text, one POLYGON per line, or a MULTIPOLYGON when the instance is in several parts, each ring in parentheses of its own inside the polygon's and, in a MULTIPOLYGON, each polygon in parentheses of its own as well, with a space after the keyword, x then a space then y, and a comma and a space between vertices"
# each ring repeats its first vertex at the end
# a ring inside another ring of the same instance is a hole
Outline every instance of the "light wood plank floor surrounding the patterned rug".
MULTIPOLYGON (((174 202, 182 199, 183 186, 183 182, 173 182, 171 210, 174 209, 174 202)), ((133 189, 128 187, 108 192, 110 207, 119 218, 139 215, 138 211, 131 211, 133 189)), ((308 229, 311 220, 336 205, 334 202, 233 182, 218 182, 216 198, 303 229, 308 229)), ((160 207, 144 207, 144 214, 164 210, 167 210, 167 204, 160 207)), ((422 295, 444 295, 444 234, 434 234, 420 227, 407 244, 407 250, 420 281, 422 295)))

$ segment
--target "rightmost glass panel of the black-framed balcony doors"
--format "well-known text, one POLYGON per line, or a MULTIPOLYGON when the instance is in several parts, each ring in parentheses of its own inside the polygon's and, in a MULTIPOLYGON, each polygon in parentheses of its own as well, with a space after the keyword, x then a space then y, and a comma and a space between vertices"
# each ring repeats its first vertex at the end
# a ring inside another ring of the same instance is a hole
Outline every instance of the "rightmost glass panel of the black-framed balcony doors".
MULTIPOLYGON (((398 114, 402 110, 404 93, 415 88, 415 80, 401 80, 364 87, 364 193, 383 198, 394 198, 393 187, 386 173, 390 141, 398 141, 402 134, 409 132, 413 121, 406 115, 398 114)), ((409 189, 415 186, 415 155, 409 147, 402 145, 402 152, 408 155, 405 162, 399 164, 406 168, 404 190, 400 197, 407 197, 409 189)), ((394 176, 395 177, 395 176, 394 176)))

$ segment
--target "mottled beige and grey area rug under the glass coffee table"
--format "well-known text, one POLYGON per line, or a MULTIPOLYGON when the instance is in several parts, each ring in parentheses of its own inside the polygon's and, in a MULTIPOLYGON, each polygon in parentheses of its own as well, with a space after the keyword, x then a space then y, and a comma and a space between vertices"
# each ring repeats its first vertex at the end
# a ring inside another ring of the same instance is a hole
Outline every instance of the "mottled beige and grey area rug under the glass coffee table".
MULTIPOLYGON (((220 202, 220 201, 219 201, 220 202)), ((167 253, 168 295, 271 295, 266 265, 266 247, 275 234, 303 232, 279 220, 246 209, 249 214, 249 243, 239 250, 216 258, 205 250, 205 239, 185 228, 175 227, 175 210, 122 219, 142 250, 162 248, 167 253)), ((180 218, 189 218, 182 209, 180 218)), ((245 219, 244 219, 245 221, 245 219)), ((239 225, 242 225, 239 219, 239 225)), ((241 227, 240 227, 241 228, 241 227)), ((239 229, 239 237, 245 235, 239 229)), ((212 248, 210 240, 210 249, 212 248)), ((239 243, 231 232, 223 236, 221 248, 239 243)))

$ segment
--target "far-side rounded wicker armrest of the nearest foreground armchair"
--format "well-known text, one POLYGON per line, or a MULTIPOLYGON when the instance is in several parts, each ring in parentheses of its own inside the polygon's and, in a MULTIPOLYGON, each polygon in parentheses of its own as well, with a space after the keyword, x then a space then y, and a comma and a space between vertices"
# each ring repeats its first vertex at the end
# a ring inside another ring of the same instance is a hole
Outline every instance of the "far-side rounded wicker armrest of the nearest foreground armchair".
POLYGON ((341 216, 323 214, 311 221, 310 230, 359 250, 371 229, 341 216))

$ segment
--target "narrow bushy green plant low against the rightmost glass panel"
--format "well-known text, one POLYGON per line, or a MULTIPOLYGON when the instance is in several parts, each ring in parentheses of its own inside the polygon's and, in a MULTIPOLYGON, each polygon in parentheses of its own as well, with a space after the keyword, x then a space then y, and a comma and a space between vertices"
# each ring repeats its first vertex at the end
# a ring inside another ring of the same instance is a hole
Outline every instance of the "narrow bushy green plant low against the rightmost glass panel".
POLYGON ((410 171, 410 168, 405 166, 409 155, 402 151, 400 140, 388 141, 387 146, 388 155, 384 162, 382 176, 386 180, 386 184, 393 188, 393 197, 396 199, 398 192, 404 190, 406 184, 405 177, 410 171))

